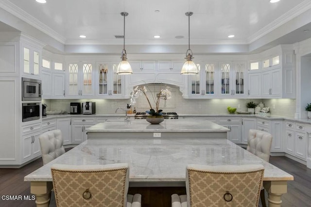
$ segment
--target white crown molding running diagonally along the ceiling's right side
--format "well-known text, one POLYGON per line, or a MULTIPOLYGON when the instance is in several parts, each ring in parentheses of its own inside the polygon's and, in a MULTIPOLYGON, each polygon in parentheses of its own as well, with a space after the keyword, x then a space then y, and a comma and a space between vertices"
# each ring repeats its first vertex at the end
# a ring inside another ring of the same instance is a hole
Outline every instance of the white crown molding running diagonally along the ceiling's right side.
POLYGON ((279 26, 285 24, 286 22, 292 20, 293 18, 301 15, 302 13, 308 11, 311 9, 311 1, 305 0, 299 5, 295 6, 290 11, 284 13, 282 16, 279 16, 276 18, 276 20, 272 21, 267 26, 260 29, 258 32, 255 32, 254 34, 250 35, 247 39, 247 44, 251 44, 258 40, 259 38, 263 37, 264 35, 268 34, 269 32, 274 31, 279 26))

